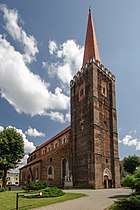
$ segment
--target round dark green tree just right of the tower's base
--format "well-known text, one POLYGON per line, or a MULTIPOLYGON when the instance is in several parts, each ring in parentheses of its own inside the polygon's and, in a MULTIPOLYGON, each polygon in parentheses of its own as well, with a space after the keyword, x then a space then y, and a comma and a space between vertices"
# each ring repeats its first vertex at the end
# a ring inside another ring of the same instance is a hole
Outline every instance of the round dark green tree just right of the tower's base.
POLYGON ((137 156, 129 156, 123 163, 124 170, 134 174, 136 168, 140 165, 140 158, 137 156))

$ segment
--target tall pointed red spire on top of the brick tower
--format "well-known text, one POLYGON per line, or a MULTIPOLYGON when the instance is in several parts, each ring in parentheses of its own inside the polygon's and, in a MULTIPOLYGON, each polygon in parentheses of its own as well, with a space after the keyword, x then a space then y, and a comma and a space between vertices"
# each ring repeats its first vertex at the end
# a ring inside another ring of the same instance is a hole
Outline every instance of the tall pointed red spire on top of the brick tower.
POLYGON ((95 58, 101 62, 91 10, 89 9, 83 66, 90 60, 90 58, 95 58))

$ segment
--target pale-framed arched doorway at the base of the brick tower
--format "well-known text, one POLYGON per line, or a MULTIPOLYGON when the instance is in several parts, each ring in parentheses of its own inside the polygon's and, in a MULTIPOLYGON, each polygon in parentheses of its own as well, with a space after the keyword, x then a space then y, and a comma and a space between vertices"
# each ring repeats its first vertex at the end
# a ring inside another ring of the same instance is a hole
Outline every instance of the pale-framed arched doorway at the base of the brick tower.
POLYGON ((104 178, 104 188, 105 189, 112 188, 112 176, 108 168, 104 170, 103 178, 104 178))

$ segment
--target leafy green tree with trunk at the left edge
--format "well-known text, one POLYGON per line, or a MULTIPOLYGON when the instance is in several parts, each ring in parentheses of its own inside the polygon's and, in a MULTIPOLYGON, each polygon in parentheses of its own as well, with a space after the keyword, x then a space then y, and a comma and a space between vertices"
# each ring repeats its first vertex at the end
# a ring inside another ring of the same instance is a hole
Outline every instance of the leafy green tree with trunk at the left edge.
POLYGON ((24 156, 24 141, 16 129, 8 127, 0 132, 0 170, 3 171, 3 187, 7 170, 16 168, 24 156))

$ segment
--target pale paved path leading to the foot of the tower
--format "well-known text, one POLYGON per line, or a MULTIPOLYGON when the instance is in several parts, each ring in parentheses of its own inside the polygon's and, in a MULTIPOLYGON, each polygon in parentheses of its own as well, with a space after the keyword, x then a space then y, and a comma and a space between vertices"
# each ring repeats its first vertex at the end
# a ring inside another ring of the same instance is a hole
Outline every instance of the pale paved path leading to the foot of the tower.
POLYGON ((61 203, 35 208, 33 210, 104 210, 118 197, 129 195, 130 189, 104 189, 104 190, 65 190, 65 192, 84 193, 89 196, 69 200, 61 203))

